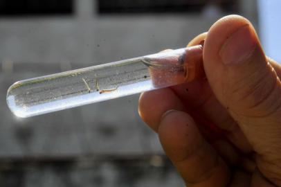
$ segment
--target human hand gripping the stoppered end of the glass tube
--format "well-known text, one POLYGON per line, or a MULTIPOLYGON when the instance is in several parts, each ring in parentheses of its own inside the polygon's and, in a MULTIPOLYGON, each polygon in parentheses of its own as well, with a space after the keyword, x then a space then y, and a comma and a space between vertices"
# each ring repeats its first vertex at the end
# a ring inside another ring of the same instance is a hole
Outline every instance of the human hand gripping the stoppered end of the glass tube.
POLYGON ((203 39, 206 79, 143 93, 141 118, 187 186, 281 186, 281 66, 243 17, 203 39))

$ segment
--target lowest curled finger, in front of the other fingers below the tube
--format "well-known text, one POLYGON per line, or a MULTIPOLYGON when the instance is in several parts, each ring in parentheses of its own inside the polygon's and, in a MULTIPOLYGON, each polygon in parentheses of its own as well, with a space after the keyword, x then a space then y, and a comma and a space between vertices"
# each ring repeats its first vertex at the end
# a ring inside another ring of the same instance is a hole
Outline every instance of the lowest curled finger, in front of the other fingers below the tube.
POLYGON ((203 139, 185 112, 170 111, 161 118, 158 136, 167 156, 192 186, 226 186, 230 173, 226 163, 203 139))

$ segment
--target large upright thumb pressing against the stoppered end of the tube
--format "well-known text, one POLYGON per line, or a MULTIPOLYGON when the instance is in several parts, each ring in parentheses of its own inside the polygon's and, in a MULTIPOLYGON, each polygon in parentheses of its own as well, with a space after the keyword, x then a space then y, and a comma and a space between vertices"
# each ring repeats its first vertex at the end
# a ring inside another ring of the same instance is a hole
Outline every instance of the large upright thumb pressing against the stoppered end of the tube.
POLYGON ((258 168, 281 185, 281 83, 251 23, 237 15, 217 21, 203 61, 215 96, 257 152, 258 168))

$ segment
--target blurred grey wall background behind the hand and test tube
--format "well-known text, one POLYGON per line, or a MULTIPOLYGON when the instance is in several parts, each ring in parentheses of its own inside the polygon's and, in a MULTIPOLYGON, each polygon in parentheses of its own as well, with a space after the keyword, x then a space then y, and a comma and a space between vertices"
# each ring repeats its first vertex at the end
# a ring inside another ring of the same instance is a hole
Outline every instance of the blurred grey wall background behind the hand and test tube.
POLYGON ((6 106, 8 87, 180 48, 233 13, 252 21, 266 53, 281 62, 280 2, 0 0, 0 186, 183 186, 139 118, 138 96, 17 118, 6 106))

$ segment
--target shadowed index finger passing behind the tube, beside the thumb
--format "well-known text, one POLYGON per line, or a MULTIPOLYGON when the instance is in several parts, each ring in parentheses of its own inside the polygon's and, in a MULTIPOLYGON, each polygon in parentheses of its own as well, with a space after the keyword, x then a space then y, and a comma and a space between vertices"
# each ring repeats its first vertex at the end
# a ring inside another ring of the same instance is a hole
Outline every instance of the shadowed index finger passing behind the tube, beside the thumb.
MULTIPOLYGON (((200 44, 206 39, 208 33, 201 33, 194 37, 188 46, 200 44)), ((242 152, 251 152, 251 145, 244 136, 243 132, 233 121, 233 118, 228 114, 225 107, 218 102, 216 96, 212 93, 208 80, 198 80, 186 84, 177 85, 172 87, 175 94, 191 107, 192 112, 200 113, 200 118, 206 116, 206 120, 211 121, 223 130, 228 131, 227 138, 242 152)))

